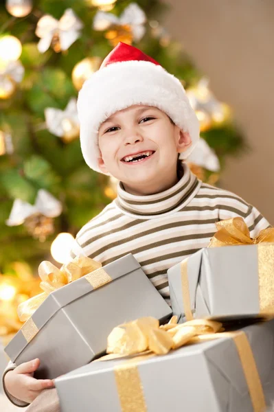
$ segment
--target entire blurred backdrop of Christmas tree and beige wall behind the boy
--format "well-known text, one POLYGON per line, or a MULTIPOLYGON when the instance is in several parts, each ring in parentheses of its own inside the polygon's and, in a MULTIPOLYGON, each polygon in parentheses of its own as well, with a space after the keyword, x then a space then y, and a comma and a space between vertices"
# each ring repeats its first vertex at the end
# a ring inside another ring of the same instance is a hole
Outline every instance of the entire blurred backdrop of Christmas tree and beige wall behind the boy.
MULTIPOLYGON (((119 41, 178 77, 201 124, 188 163, 273 224, 271 0, 6 0, 0 3, 0 336, 40 293, 76 233, 115 198, 80 151, 76 98, 119 41)), ((96 98, 96 96, 94 96, 96 98)), ((106 96, 107 98, 107 96, 106 96)))

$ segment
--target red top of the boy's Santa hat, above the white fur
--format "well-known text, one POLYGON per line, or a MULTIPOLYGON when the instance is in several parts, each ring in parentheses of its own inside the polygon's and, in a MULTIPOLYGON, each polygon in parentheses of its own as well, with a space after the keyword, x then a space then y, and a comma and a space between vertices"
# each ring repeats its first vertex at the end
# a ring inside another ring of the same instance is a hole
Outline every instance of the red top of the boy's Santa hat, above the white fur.
POLYGON ((141 52, 134 46, 127 45, 126 43, 118 43, 118 45, 106 56, 100 69, 109 66, 112 63, 128 62, 130 60, 146 61, 153 63, 154 65, 161 66, 154 58, 141 52))

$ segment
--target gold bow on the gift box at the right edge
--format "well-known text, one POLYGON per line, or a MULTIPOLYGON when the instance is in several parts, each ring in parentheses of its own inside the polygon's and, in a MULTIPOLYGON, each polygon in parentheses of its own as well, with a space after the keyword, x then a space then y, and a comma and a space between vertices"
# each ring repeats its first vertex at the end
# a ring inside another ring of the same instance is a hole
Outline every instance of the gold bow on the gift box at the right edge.
POLYGON ((274 228, 264 229, 253 239, 243 218, 231 218, 216 222, 217 230, 208 247, 232 246, 236 244, 258 244, 274 242, 274 228))

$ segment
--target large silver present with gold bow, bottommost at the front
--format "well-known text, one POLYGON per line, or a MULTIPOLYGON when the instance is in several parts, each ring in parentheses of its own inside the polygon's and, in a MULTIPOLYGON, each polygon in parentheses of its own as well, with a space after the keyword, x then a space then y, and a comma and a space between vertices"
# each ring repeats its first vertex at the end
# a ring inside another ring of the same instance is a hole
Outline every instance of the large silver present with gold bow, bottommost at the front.
POLYGON ((114 354, 56 379, 61 411, 266 411, 274 398, 274 320, 234 332, 205 319, 170 326, 139 319, 115 328, 114 354))

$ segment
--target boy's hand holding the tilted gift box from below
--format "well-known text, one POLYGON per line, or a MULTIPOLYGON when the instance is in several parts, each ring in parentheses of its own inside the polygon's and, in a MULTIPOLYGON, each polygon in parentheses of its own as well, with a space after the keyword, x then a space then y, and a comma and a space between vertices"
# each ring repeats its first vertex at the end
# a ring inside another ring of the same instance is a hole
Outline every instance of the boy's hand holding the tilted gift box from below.
POLYGON ((31 403, 43 389, 54 387, 53 380, 35 379, 34 372, 40 364, 39 359, 22 363, 5 375, 5 388, 10 395, 23 402, 31 403))

